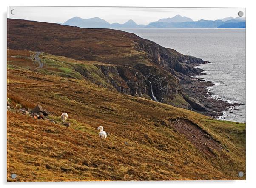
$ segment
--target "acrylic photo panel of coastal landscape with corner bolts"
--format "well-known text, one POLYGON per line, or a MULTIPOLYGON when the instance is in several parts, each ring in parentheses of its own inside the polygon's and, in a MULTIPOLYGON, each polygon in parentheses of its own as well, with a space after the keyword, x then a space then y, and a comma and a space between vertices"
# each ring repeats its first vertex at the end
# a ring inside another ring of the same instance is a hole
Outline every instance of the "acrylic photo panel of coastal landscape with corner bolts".
POLYGON ((245 8, 7 12, 7 181, 245 180, 245 8))

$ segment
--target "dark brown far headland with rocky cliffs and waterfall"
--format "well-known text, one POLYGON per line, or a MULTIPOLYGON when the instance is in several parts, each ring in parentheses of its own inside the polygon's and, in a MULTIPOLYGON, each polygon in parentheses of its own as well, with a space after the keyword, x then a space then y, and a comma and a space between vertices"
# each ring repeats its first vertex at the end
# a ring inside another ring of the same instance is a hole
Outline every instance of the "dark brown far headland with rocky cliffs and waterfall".
POLYGON ((7 22, 9 49, 45 51, 77 60, 97 61, 91 67, 76 65, 75 70, 100 86, 137 97, 156 97, 160 102, 209 116, 221 116, 229 107, 225 102, 210 99, 206 89, 199 89, 205 88, 205 85, 200 86, 200 80, 193 84, 196 88, 189 84, 190 76, 202 74, 202 70, 194 66, 209 63, 200 58, 182 55, 120 30, 18 19, 7 22))

